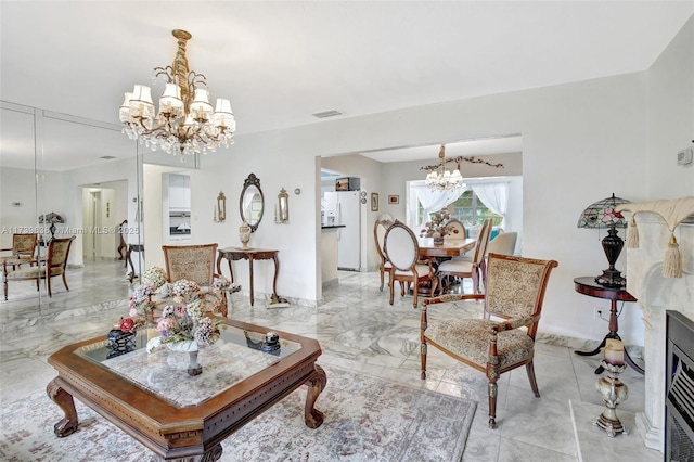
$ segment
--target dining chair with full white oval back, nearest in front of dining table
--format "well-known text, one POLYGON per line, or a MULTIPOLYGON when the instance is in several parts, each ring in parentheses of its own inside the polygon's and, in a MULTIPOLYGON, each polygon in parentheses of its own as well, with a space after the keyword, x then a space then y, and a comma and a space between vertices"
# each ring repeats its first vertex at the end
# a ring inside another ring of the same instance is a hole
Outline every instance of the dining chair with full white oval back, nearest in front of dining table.
POLYGON ((400 296, 404 296, 406 287, 409 290, 413 285, 412 293, 414 299, 412 307, 416 309, 419 303, 419 286, 421 283, 429 282, 432 293, 436 293, 438 279, 432 265, 432 260, 420 259, 420 246, 416 236, 403 222, 395 222, 386 230, 384 240, 385 255, 393 265, 388 286, 390 287, 390 305, 394 303, 395 281, 400 283, 400 296))

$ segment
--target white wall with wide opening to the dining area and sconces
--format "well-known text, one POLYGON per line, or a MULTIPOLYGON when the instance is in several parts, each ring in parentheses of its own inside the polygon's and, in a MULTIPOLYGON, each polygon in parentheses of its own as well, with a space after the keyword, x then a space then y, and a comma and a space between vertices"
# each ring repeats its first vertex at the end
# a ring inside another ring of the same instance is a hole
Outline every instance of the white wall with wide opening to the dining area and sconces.
MULTIPOLYGON (((232 189, 228 195, 237 196, 250 171, 261 179, 266 197, 277 195, 282 185, 288 191, 300 187, 304 193, 292 203, 292 222, 279 227, 264 220, 252 245, 280 248, 282 267, 291 269, 281 271, 281 295, 316 300, 321 298, 316 156, 522 133, 523 253, 560 261, 541 326, 557 334, 602 338, 607 326, 592 315, 599 301, 576 294, 573 279, 600 274, 606 260, 601 236, 577 229, 576 222, 588 204, 612 192, 646 198, 641 167, 646 159, 645 128, 641 73, 255 133, 239 137, 229 153, 203 159, 200 174, 205 175, 210 201, 202 209, 210 208, 211 197, 224 184, 236 185, 235 194, 232 189)), ((383 204, 390 190, 380 191, 383 204)), ((237 245, 240 220, 234 215, 229 214, 231 219, 222 226, 210 226, 209 239, 237 245)), ((624 268, 624 262, 617 266, 624 268)), ((642 325, 628 311, 620 333, 638 344, 642 325)))

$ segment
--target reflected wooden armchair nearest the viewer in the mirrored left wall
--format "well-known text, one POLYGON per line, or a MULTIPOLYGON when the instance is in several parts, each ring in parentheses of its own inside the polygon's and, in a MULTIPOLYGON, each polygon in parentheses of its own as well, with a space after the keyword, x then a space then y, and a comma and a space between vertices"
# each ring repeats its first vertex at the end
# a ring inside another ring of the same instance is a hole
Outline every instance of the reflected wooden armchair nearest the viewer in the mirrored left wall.
POLYGON ((74 235, 62 239, 53 238, 48 245, 48 253, 44 258, 33 260, 31 266, 17 267, 13 270, 5 267, 2 277, 4 299, 8 299, 8 283, 12 281, 35 280, 36 290, 38 291, 41 280, 44 279, 48 287, 48 296, 52 297, 53 292, 51 291, 51 279, 61 275, 63 277, 63 285, 65 285, 65 290, 69 291, 67 280, 65 279, 65 268, 67 267, 67 257, 74 240, 74 235))

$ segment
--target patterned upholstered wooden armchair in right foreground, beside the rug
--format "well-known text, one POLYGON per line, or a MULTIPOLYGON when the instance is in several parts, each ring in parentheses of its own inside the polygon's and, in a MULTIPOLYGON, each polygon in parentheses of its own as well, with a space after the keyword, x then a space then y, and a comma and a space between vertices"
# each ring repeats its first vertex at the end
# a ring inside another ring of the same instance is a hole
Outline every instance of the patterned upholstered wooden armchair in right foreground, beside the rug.
POLYGON ((555 260, 489 254, 488 286, 481 294, 446 294, 422 301, 422 378, 426 354, 434 346, 480 371, 489 381, 489 427, 497 426, 497 381, 504 372, 526 367, 530 388, 540 397, 532 359, 544 291, 555 260), (483 319, 437 320, 436 305, 484 299, 483 319), (429 316, 430 315, 430 316, 429 316))

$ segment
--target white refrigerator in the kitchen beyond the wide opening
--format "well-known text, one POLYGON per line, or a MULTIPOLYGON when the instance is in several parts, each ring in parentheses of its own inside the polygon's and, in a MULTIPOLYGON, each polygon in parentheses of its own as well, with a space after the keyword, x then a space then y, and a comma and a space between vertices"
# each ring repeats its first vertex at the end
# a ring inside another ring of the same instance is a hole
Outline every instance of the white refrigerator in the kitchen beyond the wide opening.
POLYGON ((327 216, 334 215, 337 230, 337 268, 360 270, 361 201, 359 191, 327 191, 324 195, 327 216))

